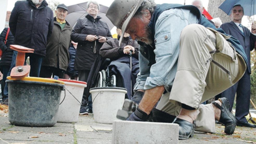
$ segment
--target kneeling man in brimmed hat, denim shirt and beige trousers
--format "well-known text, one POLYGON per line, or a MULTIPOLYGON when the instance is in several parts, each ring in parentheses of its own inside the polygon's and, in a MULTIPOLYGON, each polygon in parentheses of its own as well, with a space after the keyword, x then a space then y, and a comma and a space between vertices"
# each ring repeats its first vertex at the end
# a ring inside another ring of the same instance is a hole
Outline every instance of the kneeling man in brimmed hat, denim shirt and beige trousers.
POLYGON ((145 94, 127 120, 177 123, 179 139, 193 137, 195 130, 215 132, 215 120, 233 134, 236 120, 226 98, 200 103, 244 74, 248 61, 234 37, 216 29, 192 5, 115 0, 106 15, 140 44, 135 90, 145 94))

